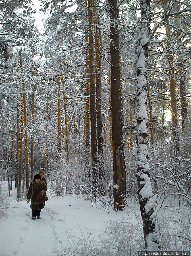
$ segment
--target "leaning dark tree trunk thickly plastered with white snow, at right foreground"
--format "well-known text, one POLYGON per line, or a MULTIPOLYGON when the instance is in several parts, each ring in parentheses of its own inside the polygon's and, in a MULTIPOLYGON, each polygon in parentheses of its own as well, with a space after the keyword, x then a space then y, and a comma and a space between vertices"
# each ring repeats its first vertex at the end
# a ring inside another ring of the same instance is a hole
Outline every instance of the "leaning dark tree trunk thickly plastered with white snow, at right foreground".
POLYGON ((138 197, 140 211, 143 221, 145 247, 147 251, 159 250, 159 240, 156 227, 155 211, 153 206, 153 192, 150 182, 148 164, 148 116, 146 111, 147 103, 147 73, 146 59, 148 56, 148 24, 150 22, 150 1, 141 1, 141 25, 138 39, 138 63, 137 63, 137 153, 138 153, 138 197))

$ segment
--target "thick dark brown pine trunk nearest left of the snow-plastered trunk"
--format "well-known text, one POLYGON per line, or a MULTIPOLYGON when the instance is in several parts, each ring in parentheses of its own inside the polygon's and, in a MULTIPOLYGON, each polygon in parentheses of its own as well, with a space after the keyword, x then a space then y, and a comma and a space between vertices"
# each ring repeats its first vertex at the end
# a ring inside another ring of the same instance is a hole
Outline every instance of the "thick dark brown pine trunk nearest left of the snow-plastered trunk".
POLYGON ((113 197, 114 209, 123 210, 126 194, 126 167, 123 149, 123 119, 121 104, 120 59, 119 59, 119 9, 117 0, 109 0, 110 56, 111 56, 111 109, 113 142, 113 197))

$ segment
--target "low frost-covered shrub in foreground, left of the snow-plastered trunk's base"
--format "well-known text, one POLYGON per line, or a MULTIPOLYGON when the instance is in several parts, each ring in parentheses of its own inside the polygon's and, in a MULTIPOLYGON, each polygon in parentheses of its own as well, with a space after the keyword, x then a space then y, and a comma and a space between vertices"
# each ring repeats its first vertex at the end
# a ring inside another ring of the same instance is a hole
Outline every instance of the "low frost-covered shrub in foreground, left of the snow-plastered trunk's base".
POLYGON ((76 238, 69 236, 68 245, 60 249, 62 256, 134 256, 144 248, 144 237, 141 224, 131 222, 110 221, 99 239, 76 238))

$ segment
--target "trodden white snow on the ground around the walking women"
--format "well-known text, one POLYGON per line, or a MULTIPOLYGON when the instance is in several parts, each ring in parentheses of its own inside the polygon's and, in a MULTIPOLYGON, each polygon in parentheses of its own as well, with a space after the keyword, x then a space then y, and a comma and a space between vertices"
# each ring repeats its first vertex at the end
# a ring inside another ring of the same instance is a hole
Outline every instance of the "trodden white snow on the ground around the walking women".
POLYGON ((0 256, 56 256, 71 236, 98 238, 110 220, 125 218, 136 223, 134 214, 127 210, 115 212, 110 207, 108 214, 76 196, 49 197, 40 220, 32 220, 30 203, 16 201, 15 188, 7 200, 10 208, 0 221, 0 256))

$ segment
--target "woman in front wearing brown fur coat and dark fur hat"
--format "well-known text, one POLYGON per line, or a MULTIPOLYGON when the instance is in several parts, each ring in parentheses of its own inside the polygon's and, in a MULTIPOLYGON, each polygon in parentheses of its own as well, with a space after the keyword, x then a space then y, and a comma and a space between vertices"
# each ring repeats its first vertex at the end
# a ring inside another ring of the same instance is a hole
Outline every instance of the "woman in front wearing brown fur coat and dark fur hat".
POLYGON ((45 202, 42 196, 46 193, 46 191, 47 185, 44 181, 41 180, 41 176, 36 174, 30 183, 26 197, 26 199, 28 199, 27 203, 29 203, 31 199, 30 208, 32 209, 32 220, 35 220, 36 217, 40 219, 40 211, 45 206, 45 202))

